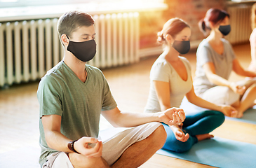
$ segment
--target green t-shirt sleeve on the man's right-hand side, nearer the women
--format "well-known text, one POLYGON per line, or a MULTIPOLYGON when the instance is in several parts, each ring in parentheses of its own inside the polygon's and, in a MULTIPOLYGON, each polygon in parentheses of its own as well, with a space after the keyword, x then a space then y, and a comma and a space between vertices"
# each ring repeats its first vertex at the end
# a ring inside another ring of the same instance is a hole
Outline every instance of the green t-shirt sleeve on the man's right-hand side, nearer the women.
POLYGON ((116 108, 117 104, 116 104, 116 101, 114 100, 114 97, 112 96, 111 90, 109 88, 109 84, 107 83, 105 76, 103 76, 103 80, 104 80, 104 90, 103 90, 104 99, 102 103, 102 111, 109 111, 116 108))

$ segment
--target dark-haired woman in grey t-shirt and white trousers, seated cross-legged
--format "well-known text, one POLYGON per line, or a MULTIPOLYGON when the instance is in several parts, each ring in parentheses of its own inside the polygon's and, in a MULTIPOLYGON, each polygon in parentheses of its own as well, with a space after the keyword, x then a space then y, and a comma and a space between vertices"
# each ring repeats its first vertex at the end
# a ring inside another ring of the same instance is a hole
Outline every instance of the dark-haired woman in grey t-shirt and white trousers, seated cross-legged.
POLYGON ((236 118, 241 118, 254 105, 256 73, 243 69, 232 45, 223 38, 231 30, 229 13, 210 8, 199 22, 199 27, 208 36, 199 44, 196 52, 195 92, 208 102, 234 106, 238 111, 236 118), (231 71, 250 78, 230 81, 231 71))

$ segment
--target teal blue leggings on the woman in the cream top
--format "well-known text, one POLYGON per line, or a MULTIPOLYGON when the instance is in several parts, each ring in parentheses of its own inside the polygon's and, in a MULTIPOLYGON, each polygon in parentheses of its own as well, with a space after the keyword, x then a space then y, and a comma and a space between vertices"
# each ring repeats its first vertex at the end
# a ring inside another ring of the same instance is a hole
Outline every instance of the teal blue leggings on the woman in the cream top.
POLYGON ((189 149, 198 141, 196 135, 212 132, 222 125, 224 120, 224 114, 220 111, 202 111, 186 114, 182 130, 185 134, 189 134, 189 139, 185 142, 177 140, 170 127, 163 123, 163 127, 167 133, 167 139, 166 143, 163 145, 163 149, 177 153, 189 151, 189 149))

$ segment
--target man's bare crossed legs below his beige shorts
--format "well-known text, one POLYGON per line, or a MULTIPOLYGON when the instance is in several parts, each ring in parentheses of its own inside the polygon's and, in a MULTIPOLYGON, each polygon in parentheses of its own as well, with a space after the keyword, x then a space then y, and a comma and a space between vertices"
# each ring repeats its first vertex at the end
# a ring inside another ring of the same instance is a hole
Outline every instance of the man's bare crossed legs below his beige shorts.
MULTIPOLYGON (((87 167, 139 167, 149 160, 156 151, 158 151, 166 141, 166 132, 163 126, 159 126, 152 132, 149 137, 137 141, 123 152, 121 157, 113 165, 107 164, 104 158, 86 158, 77 153, 69 153, 69 160, 74 168, 87 167)), ((104 148, 104 146, 103 146, 104 148)))

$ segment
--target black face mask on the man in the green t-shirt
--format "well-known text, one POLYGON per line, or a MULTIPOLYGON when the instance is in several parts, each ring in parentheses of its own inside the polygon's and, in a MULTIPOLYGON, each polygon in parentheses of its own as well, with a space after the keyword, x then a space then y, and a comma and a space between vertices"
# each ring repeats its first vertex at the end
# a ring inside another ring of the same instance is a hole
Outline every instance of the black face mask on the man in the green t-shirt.
MULTIPOLYGON (((67 38, 69 39, 68 36, 67 38)), ((94 39, 83 42, 74 42, 69 40, 67 50, 72 52, 72 54, 82 62, 88 62, 90 59, 93 59, 96 54, 96 42, 94 39)))

